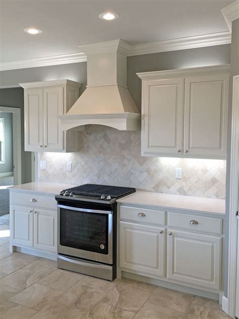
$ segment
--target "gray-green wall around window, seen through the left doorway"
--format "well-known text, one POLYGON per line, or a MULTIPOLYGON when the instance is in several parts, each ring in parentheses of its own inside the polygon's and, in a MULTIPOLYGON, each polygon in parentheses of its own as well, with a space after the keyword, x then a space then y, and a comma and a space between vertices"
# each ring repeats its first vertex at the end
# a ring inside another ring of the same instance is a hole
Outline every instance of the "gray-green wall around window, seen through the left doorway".
POLYGON ((5 163, 0 164, 0 173, 13 172, 13 114, 0 113, 4 118, 5 163))

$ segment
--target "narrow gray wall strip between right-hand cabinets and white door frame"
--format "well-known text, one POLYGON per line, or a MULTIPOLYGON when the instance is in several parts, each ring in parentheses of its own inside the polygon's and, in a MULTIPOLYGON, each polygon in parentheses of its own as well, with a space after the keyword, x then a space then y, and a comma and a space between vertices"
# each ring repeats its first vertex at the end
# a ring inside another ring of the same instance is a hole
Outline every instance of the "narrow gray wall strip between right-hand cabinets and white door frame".
MULTIPOLYGON (((231 31, 231 67, 229 83, 229 113, 228 113, 228 142, 226 165, 226 239, 225 260, 228 260, 228 234, 229 234, 229 196, 230 196, 230 155, 231 155, 231 111, 232 111, 232 84, 233 76, 239 74, 239 19, 232 22, 231 31)), ((228 263, 225 263, 225 297, 227 297, 228 263)))

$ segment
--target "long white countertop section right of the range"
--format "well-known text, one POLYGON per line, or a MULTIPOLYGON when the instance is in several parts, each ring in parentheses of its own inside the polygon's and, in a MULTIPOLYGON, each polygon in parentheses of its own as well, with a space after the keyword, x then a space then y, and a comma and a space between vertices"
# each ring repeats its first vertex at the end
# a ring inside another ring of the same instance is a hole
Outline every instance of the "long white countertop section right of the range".
POLYGON ((117 200, 118 203, 160 207, 165 210, 182 209, 192 212, 225 214, 225 200, 194 196, 171 195, 137 191, 117 200))

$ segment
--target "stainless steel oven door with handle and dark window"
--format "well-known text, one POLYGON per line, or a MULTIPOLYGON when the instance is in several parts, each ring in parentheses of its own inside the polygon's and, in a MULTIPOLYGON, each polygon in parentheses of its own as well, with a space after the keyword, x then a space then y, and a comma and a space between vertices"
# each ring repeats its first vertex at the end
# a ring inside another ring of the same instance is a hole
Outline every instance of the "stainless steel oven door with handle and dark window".
POLYGON ((57 252, 113 263, 112 211, 57 205, 57 252))

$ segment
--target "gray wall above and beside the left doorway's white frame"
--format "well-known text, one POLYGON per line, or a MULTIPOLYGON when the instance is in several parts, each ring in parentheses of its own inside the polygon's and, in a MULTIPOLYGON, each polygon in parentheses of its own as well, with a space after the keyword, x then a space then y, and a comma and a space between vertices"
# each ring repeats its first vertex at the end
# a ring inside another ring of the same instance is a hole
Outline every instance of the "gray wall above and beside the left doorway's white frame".
POLYGON ((24 151, 24 96, 23 88, 0 89, 0 105, 21 109, 21 131, 22 131, 22 184, 31 181, 31 152, 24 151))

